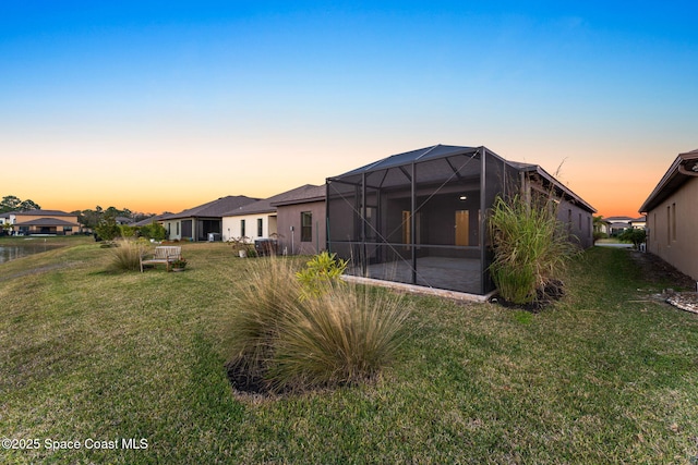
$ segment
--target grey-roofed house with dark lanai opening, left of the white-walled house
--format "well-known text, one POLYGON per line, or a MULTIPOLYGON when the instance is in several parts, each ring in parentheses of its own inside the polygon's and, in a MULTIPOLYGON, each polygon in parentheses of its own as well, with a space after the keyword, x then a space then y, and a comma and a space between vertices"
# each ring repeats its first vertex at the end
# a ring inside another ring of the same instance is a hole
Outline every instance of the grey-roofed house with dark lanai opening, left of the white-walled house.
POLYGON ((209 235, 220 240, 222 216, 257 200, 244 195, 229 195, 179 213, 167 215, 160 222, 170 241, 208 241, 209 235))

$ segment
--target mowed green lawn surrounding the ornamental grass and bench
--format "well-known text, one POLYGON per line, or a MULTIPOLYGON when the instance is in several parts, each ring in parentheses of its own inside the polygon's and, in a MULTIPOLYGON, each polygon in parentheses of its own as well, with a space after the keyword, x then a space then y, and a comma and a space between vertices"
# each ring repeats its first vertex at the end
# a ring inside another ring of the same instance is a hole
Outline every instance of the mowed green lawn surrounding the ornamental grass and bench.
POLYGON ((252 259, 183 255, 182 273, 115 273, 85 238, 0 266, 0 437, 40 441, 0 463, 698 461, 698 317, 649 298, 627 250, 587 252, 537 315, 408 296, 376 383, 276 399, 233 395, 224 367, 252 259))

